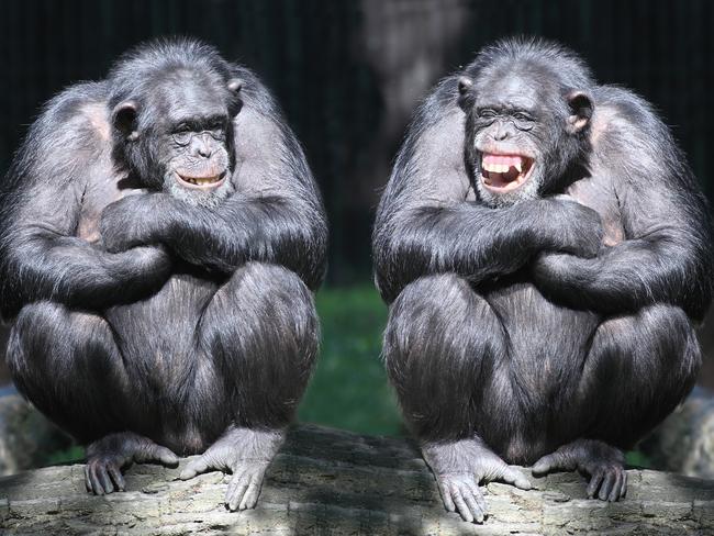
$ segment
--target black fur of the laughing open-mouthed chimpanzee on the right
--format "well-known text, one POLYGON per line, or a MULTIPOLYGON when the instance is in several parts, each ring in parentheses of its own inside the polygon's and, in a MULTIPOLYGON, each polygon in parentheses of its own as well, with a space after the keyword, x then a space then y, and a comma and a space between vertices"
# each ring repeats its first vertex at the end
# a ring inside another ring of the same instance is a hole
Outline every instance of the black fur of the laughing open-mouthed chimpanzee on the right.
MULTIPOLYGON (((556 44, 498 43, 436 87, 397 157, 373 255, 391 381, 465 518, 483 514, 475 474, 527 487, 475 453, 533 464, 570 444, 538 467, 620 468, 607 445, 632 447, 694 382, 692 323, 712 298, 704 197, 651 107, 556 44), (531 182, 490 192, 484 146, 528 152, 531 182)), ((622 496, 623 478, 599 496, 622 496)))

